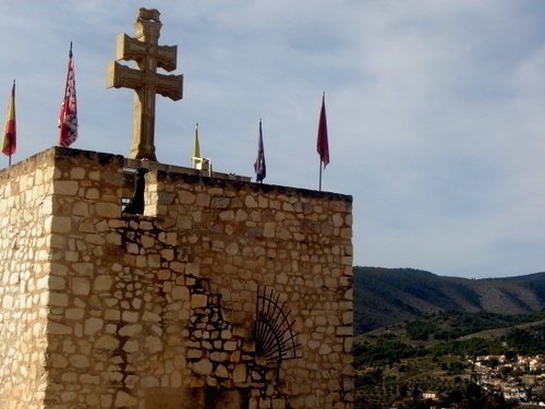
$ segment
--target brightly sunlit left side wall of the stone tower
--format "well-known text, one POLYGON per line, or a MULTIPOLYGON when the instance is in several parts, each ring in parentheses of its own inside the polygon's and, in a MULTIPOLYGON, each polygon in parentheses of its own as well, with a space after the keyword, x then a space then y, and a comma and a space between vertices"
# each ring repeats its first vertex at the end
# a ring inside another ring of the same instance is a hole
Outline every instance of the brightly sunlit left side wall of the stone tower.
POLYGON ((48 382, 53 170, 39 157, 0 172, 0 406, 5 408, 41 408, 48 382))

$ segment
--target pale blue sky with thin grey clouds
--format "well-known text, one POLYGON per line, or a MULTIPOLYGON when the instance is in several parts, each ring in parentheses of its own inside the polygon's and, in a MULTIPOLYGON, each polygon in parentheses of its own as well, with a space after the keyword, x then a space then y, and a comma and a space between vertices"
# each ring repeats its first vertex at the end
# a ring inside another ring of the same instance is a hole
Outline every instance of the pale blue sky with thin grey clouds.
POLYGON ((191 166, 198 122, 214 169, 255 180, 262 119, 264 182, 317 190, 325 93, 323 190, 353 196, 354 265, 545 272, 545 1, 0 0, 13 164, 58 143, 70 41, 72 147, 129 154, 133 92, 105 72, 140 7, 184 75, 182 100, 157 97, 158 161, 191 166))

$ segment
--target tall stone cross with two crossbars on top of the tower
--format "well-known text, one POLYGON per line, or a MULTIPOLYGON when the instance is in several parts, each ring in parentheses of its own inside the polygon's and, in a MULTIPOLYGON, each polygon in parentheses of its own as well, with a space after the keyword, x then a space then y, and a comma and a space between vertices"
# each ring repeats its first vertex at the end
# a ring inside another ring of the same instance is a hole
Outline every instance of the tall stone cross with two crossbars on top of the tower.
POLYGON ((120 34, 116 38, 116 60, 135 61, 129 68, 110 61, 106 87, 134 89, 133 139, 130 157, 157 160, 155 156, 155 94, 173 100, 182 98, 183 75, 157 73, 157 68, 172 71, 177 64, 177 46, 159 46, 161 22, 155 10, 140 9, 134 23, 135 38, 120 34))

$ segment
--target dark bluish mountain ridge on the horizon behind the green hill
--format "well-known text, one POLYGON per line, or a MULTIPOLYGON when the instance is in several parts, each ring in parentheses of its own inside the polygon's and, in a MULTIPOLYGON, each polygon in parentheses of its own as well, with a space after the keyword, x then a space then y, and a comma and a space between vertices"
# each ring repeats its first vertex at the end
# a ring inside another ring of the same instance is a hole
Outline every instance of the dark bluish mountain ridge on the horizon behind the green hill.
POLYGON ((470 279, 412 268, 360 267, 354 273, 354 334, 440 311, 524 314, 545 309, 545 272, 470 279))

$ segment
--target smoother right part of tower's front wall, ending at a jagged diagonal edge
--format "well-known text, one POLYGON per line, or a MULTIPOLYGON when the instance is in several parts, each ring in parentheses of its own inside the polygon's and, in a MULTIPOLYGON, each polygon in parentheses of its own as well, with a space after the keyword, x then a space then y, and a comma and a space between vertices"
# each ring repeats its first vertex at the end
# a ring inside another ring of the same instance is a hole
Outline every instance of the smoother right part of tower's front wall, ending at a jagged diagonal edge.
POLYGON ((293 408, 344 408, 352 393, 350 197, 256 183, 149 175, 146 212, 175 220, 189 264, 252 333, 257 287, 281 294, 300 358, 280 378, 293 408), (305 382, 302 382, 305 380, 305 382), (340 404, 343 402, 343 404, 340 404))

